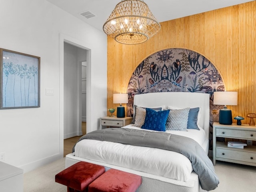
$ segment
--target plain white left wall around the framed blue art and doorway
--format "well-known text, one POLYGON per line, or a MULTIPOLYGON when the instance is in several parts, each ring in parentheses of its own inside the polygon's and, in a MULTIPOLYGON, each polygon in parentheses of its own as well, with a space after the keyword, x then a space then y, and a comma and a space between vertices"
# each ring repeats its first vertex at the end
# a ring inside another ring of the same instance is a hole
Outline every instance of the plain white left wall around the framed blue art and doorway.
POLYGON ((0 152, 24 172, 63 156, 63 46, 60 34, 91 50, 89 131, 106 115, 106 35, 46 0, 1 1, 0 47, 41 57, 40 108, 0 110, 0 152), (46 96, 45 89, 54 90, 46 96))

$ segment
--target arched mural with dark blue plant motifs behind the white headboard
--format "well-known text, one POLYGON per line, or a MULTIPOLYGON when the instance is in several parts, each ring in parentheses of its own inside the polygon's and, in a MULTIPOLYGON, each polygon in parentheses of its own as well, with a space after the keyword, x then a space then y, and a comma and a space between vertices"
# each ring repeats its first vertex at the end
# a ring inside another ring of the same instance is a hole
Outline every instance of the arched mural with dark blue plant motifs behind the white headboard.
POLYGON ((133 115, 133 98, 148 92, 203 92, 210 94, 210 125, 218 121, 220 106, 213 105, 213 92, 224 91, 215 66, 201 54, 183 48, 158 51, 134 70, 127 88, 127 116, 133 115))

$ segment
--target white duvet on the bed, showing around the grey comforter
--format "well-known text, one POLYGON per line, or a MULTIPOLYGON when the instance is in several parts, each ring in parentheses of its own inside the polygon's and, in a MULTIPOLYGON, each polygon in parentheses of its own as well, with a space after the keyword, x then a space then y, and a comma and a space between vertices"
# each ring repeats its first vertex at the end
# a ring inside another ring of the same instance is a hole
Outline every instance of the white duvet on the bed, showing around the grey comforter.
MULTIPOLYGON (((125 128, 140 129, 130 125, 125 126, 125 128)), ((205 140, 203 129, 166 132, 192 138, 201 146, 205 140)), ((76 144, 74 153, 75 156, 88 160, 104 162, 184 182, 188 180, 193 170, 190 160, 184 155, 157 148, 84 139, 76 144)))

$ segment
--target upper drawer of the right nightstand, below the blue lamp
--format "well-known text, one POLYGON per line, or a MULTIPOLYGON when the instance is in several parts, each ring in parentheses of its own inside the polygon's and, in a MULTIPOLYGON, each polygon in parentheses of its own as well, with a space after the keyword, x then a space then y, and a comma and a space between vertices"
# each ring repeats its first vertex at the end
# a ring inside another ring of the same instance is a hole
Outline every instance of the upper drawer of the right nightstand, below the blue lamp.
POLYGON ((216 128, 216 137, 218 137, 218 136, 254 140, 254 139, 256 139, 256 132, 255 131, 246 131, 246 130, 216 128))

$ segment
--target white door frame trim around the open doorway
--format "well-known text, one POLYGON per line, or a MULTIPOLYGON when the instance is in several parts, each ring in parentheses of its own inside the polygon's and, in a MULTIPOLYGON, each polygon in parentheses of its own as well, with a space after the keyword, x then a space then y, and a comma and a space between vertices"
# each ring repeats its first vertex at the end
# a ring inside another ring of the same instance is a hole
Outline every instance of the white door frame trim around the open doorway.
POLYGON ((73 46, 87 50, 87 67, 86 67, 86 132, 89 132, 91 124, 91 49, 87 47, 85 42, 60 33, 60 148, 59 152, 63 156, 64 150, 64 42, 73 46))

